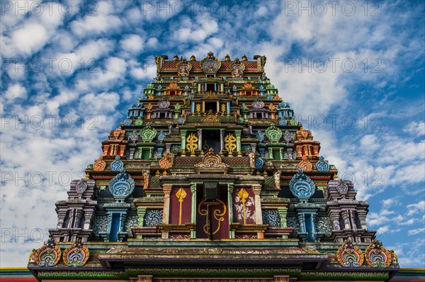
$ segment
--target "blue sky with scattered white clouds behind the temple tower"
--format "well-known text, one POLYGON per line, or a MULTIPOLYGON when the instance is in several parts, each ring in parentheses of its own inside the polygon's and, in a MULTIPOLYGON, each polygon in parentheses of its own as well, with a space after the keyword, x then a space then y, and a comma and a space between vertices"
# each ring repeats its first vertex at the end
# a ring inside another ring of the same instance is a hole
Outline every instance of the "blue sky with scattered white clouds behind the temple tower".
POLYGON ((425 267, 422 1, 1 1, 1 266, 26 266, 55 201, 156 74, 155 55, 266 55, 321 154, 425 267))

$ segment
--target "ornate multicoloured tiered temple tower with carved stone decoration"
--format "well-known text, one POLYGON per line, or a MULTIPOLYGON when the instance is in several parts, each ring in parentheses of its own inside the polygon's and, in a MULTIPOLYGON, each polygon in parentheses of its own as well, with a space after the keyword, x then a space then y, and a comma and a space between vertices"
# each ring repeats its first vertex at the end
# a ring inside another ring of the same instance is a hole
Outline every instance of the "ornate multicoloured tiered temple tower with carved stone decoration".
POLYGON ((156 57, 157 77, 57 201, 38 281, 389 281, 368 203, 266 77, 266 57, 156 57))

